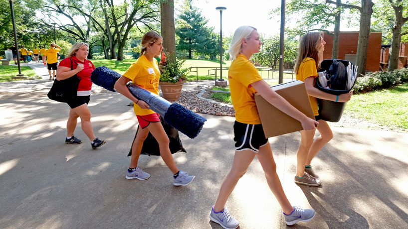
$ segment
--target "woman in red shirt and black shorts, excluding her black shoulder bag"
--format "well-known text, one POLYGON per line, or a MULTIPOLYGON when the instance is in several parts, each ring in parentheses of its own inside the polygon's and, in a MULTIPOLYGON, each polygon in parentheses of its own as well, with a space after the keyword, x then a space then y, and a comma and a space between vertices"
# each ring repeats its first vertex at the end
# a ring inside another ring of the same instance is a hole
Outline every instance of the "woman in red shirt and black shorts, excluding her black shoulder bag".
POLYGON ((65 80, 74 75, 77 75, 79 81, 76 97, 67 104, 71 108, 67 121, 67 144, 80 144, 82 140, 74 136, 78 117, 81 118, 81 127, 85 134, 91 140, 93 149, 105 144, 105 140, 99 140, 95 137, 91 125, 91 112, 88 108, 89 99, 91 96, 92 82, 91 73, 95 66, 91 61, 87 60, 89 45, 83 42, 77 42, 72 45, 67 58, 63 59, 57 69, 57 80, 65 80), (72 70, 71 70, 72 69, 72 70))

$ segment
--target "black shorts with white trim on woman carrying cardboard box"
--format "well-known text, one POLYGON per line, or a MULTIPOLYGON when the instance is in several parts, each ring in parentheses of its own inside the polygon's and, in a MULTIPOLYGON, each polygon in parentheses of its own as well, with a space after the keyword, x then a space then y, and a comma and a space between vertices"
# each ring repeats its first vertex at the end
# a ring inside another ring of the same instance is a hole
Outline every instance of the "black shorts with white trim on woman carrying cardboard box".
POLYGON ((255 153, 268 143, 262 124, 246 124, 237 121, 234 123, 234 141, 236 151, 251 150, 255 153))

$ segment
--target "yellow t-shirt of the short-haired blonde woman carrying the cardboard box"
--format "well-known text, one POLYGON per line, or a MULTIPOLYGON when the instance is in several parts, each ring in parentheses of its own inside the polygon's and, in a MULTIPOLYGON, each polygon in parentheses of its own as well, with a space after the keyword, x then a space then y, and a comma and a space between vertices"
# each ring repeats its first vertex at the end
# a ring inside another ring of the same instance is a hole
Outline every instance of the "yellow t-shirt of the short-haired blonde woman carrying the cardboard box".
POLYGON ((242 54, 232 61, 228 70, 229 89, 236 121, 246 124, 260 124, 254 95, 256 90, 250 84, 262 80, 255 66, 242 54))

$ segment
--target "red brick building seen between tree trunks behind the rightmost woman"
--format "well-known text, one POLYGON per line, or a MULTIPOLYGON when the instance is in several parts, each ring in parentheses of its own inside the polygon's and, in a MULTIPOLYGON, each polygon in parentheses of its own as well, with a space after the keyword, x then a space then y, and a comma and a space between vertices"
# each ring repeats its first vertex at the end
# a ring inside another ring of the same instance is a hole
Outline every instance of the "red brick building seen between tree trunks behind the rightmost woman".
MULTIPOLYGON (((381 36, 382 32, 371 32, 369 37, 367 52, 367 71, 380 70, 381 55, 381 36)), ((332 59, 333 36, 323 33, 323 39, 326 42, 324 47, 323 59, 332 59)), ((357 45, 359 41, 359 32, 340 32, 339 56, 338 59, 348 60, 356 63, 357 45)), ((408 46, 407 46, 408 51, 408 46)))

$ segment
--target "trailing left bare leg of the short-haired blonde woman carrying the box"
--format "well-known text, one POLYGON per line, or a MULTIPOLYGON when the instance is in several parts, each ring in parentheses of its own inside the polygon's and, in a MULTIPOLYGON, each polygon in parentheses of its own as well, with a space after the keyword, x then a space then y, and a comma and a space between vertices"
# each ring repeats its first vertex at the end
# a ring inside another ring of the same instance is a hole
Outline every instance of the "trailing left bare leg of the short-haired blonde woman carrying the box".
POLYGON ((255 157, 254 152, 250 150, 235 151, 234 162, 232 168, 222 181, 221 188, 219 190, 218 198, 214 205, 214 211, 219 212, 225 208, 226 201, 234 190, 238 180, 245 174, 248 166, 251 164, 255 157))

